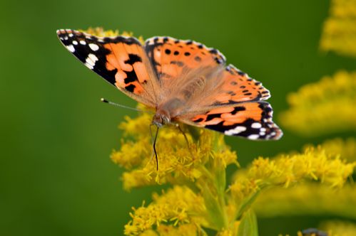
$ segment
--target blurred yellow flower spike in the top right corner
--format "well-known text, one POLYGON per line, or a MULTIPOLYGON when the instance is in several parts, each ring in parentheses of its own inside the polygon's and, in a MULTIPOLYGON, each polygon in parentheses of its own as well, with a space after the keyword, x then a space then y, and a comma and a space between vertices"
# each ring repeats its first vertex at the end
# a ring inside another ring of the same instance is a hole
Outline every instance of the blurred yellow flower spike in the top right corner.
POLYGON ((320 48, 356 57, 356 1, 332 0, 324 23, 320 48))

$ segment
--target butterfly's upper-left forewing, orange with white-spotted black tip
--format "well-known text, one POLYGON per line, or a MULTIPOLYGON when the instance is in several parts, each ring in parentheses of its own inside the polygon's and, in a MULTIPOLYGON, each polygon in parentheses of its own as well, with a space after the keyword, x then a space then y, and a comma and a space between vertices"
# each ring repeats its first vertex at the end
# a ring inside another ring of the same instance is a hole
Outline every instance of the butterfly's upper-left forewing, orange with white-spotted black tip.
POLYGON ((153 105, 158 90, 156 75, 136 38, 101 38, 73 30, 59 30, 57 35, 86 67, 138 102, 153 105))

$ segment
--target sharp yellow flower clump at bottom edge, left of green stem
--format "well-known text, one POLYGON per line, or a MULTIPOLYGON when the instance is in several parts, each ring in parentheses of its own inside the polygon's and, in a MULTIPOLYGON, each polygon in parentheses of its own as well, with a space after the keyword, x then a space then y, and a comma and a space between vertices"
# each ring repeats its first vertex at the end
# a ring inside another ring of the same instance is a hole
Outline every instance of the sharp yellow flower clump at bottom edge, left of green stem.
POLYGON ((125 235, 139 235, 141 232, 158 227, 160 235, 198 235, 203 233, 199 225, 207 225, 204 200, 184 186, 174 186, 162 195, 153 194, 153 203, 133 208, 132 220, 125 226, 125 235), (168 234, 167 234, 168 235, 168 234))

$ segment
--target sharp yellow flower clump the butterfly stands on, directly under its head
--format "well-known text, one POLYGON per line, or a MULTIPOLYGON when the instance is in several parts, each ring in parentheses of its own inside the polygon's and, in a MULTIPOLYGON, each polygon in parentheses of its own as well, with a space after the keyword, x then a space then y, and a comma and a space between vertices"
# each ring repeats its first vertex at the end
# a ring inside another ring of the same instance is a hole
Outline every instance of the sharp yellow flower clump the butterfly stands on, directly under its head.
POLYGON ((119 125, 125 139, 121 141, 121 149, 113 151, 111 159, 128 169, 123 173, 126 190, 156 183, 198 181, 208 171, 207 165, 210 168, 210 164, 221 163, 226 168, 230 163, 237 164, 237 156, 225 145, 222 134, 182 126, 187 144, 177 127, 167 126, 158 134, 157 171, 149 128, 151 119, 151 114, 143 113, 135 119, 126 117, 126 121, 119 125), (215 161, 210 163, 212 159, 215 161))

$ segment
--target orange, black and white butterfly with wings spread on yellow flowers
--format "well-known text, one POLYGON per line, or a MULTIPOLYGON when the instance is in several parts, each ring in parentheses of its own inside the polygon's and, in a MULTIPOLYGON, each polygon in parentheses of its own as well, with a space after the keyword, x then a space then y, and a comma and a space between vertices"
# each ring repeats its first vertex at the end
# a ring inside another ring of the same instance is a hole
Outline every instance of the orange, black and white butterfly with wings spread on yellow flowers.
POLYGON ((97 37, 59 30, 63 45, 134 100, 156 109, 153 124, 183 122, 248 139, 279 139, 270 92, 223 54, 171 37, 97 37))

